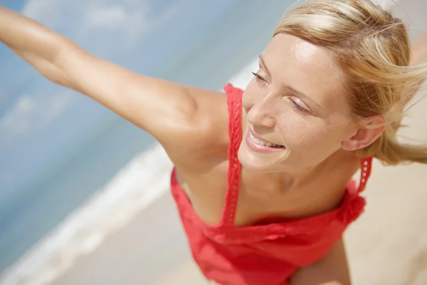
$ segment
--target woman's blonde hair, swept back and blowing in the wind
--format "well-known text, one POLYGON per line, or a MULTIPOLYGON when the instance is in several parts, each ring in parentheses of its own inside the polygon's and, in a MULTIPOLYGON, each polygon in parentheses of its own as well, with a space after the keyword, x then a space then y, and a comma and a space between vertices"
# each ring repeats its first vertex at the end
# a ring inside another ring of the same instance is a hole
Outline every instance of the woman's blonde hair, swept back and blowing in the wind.
POLYGON ((406 26, 369 0, 309 0, 288 11, 275 28, 326 48, 342 66, 354 118, 384 115, 384 133, 357 150, 387 165, 427 163, 427 147, 401 144, 396 136, 404 105, 427 64, 408 66, 410 43, 406 26))

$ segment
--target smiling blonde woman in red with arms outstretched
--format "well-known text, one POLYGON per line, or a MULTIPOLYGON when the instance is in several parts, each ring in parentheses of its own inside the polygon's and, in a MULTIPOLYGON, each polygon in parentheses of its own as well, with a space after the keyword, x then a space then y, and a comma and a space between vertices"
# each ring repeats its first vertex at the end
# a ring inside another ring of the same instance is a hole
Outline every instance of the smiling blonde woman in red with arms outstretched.
POLYGON ((219 284, 349 284, 342 233, 363 211, 371 158, 427 162, 396 140, 427 75, 425 40, 410 56, 404 24, 371 1, 293 8, 246 90, 226 94, 132 73, 6 9, 0 39, 163 145, 194 259, 219 284))

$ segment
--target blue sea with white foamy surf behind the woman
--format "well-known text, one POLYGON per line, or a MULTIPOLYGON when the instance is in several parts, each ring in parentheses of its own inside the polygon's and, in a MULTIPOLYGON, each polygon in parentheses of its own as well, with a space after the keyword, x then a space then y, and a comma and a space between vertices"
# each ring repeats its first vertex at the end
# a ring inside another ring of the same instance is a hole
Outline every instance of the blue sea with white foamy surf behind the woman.
MULTIPOLYGON (((233 6, 153 76, 211 90, 228 81, 243 88, 292 2, 233 6)), ((67 257, 65 270, 78 254, 102 242, 105 231, 117 229, 167 190, 171 167, 151 135, 108 115, 1 212, 1 284, 33 274, 60 250, 67 257)))

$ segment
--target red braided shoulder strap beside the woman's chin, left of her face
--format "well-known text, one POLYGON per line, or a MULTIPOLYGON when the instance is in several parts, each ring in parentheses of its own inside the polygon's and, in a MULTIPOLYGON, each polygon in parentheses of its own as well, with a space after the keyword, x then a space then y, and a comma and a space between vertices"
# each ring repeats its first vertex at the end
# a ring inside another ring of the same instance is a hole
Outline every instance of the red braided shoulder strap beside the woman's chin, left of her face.
POLYGON ((237 155, 242 141, 243 90, 233 87, 230 83, 224 87, 224 90, 227 94, 228 105, 228 172, 221 224, 226 227, 234 227, 241 177, 241 164, 237 155))

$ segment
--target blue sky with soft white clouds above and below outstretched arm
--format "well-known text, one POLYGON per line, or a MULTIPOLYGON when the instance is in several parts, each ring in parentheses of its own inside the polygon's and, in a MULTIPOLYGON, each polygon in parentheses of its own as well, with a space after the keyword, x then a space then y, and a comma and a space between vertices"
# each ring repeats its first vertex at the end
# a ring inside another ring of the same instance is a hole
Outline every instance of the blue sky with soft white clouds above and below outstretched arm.
MULTIPOLYGON (((86 50, 156 74, 238 0, 28 0, 1 4, 63 33, 86 50)), ((0 48, 0 204, 110 114, 46 81, 0 48)), ((21 193, 23 194, 23 193, 21 193)))

